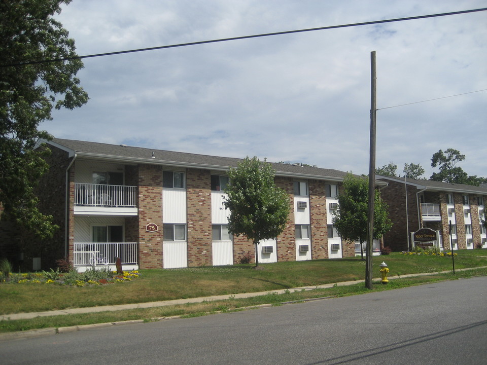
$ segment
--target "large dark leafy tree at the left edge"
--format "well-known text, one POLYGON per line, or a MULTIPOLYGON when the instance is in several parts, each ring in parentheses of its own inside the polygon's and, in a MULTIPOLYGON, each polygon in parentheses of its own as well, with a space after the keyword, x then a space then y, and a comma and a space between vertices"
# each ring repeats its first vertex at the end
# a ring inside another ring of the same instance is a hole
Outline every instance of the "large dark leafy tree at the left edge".
POLYGON ((55 227, 34 194, 48 169, 43 157, 49 153, 34 147, 38 138, 50 138, 38 126, 52 119, 53 107, 73 109, 88 101, 75 77, 81 60, 60 60, 77 57, 74 40, 52 17, 70 2, 0 2, 0 203, 41 238, 52 236, 55 227))

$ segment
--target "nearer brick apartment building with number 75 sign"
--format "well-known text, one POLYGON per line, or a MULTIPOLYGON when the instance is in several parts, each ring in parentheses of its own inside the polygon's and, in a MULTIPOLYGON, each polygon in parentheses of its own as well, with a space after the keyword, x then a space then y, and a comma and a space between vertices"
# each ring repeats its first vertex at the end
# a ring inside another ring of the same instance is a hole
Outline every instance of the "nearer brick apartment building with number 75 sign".
MULTIPOLYGON (((66 139, 43 142, 52 155, 39 186, 41 208, 60 229, 52 240, 25 245, 32 238, 15 235, 15 228, 0 221, 0 256, 15 265, 49 268, 67 257, 83 271, 120 257, 124 269, 182 268, 231 265, 248 252, 254 257, 251 241, 229 234, 222 205, 226 173, 240 159, 66 139)), ((342 242, 332 226, 346 173, 272 166, 292 208, 284 232, 259 243, 259 262, 354 256, 356 244, 342 242)), ((376 243, 374 250, 379 249, 376 243)))

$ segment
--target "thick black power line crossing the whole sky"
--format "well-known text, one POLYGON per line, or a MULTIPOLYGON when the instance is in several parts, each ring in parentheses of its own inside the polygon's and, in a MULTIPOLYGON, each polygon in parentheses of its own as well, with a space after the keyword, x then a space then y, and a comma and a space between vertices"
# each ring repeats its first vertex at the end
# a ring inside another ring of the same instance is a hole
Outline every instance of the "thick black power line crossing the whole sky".
POLYGON ((145 51, 154 51, 154 50, 160 50, 160 49, 166 49, 166 48, 176 48, 176 47, 195 46, 195 45, 208 44, 208 43, 218 43, 218 42, 228 42, 228 41, 251 39, 251 38, 261 38, 261 37, 271 36, 271 35, 302 33, 302 32, 309 32, 309 31, 316 31, 316 30, 338 29, 338 28, 355 27, 355 26, 361 26, 361 25, 392 23, 392 22, 399 22, 399 21, 405 21, 405 20, 435 18, 435 17, 442 17, 442 16, 448 16, 448 15, 475 13, 475 12, 481 12, 481 11, 486 11, 486 10, 487 10, 487 8, 480 8, 480 9, 462 10, 462 11, 450 12, 450 13, 420 15, 420 16, 407 17, 407 18, 375 20, 375 21, 370 21, 370 22, 342 24, 342 25, 331 25, 331 26, 325 26, 325 27, 319 27, 319 28, 287 30, 287 31, 281 31, 281 32, 262 33, 262 34, 254 34, 254 35, 243 35, 243 36, 237 36, 237 37, 232 37, 232 38, 222 38, 222 39, 211 40, 211 41, 180 43, 180 44, 169 45, 169 46, 140 48, 140 49, 134 49, 134 50, 128 50, 128 51, 118 51, 118 52, 97 53, 97 54, 86 55, 86 56, 75 56, 75 57, 66 57, 66 58, 47 59, 47 60, 40 60, 40 61, 27 61, 27 62, 11 63, 11 64, 7 64, 7 65, 0 65, 0 67, 24 66, 24 65, 29 65, 29 64, 68 61, 68 60, 73 60, 73 59, 113 56, 113 55, 119 55, 119 54, 124 54, 124 53, 145 52, 145 51))

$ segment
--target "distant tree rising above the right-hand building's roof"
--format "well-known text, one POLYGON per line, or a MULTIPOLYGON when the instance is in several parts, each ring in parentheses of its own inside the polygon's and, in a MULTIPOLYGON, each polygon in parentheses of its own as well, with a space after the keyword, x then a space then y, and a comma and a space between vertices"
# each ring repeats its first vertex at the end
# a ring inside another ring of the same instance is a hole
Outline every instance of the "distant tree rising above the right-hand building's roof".
POLYGON ((465 160, 465 155, 455 149, 447 149, 445 152, 439 150, 431 158, 431 167, 439 168, 439 172, 433 172, 430 179, 434 181, 453 182, 454 184, 466 184, 479 186, 486 179, 476 175, 468 175, 461 167, 456 166, 458 162, 465 160))

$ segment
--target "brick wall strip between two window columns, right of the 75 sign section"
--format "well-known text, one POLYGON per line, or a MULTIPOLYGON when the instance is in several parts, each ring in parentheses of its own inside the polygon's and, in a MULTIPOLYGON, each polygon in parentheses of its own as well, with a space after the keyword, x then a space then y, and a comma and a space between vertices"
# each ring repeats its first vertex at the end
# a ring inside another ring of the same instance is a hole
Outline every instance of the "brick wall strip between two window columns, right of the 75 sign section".
POLYGON ((212 253, 212 196, 209 170, 188 169, 187 220, 188 266, 211 266, 212 253))

